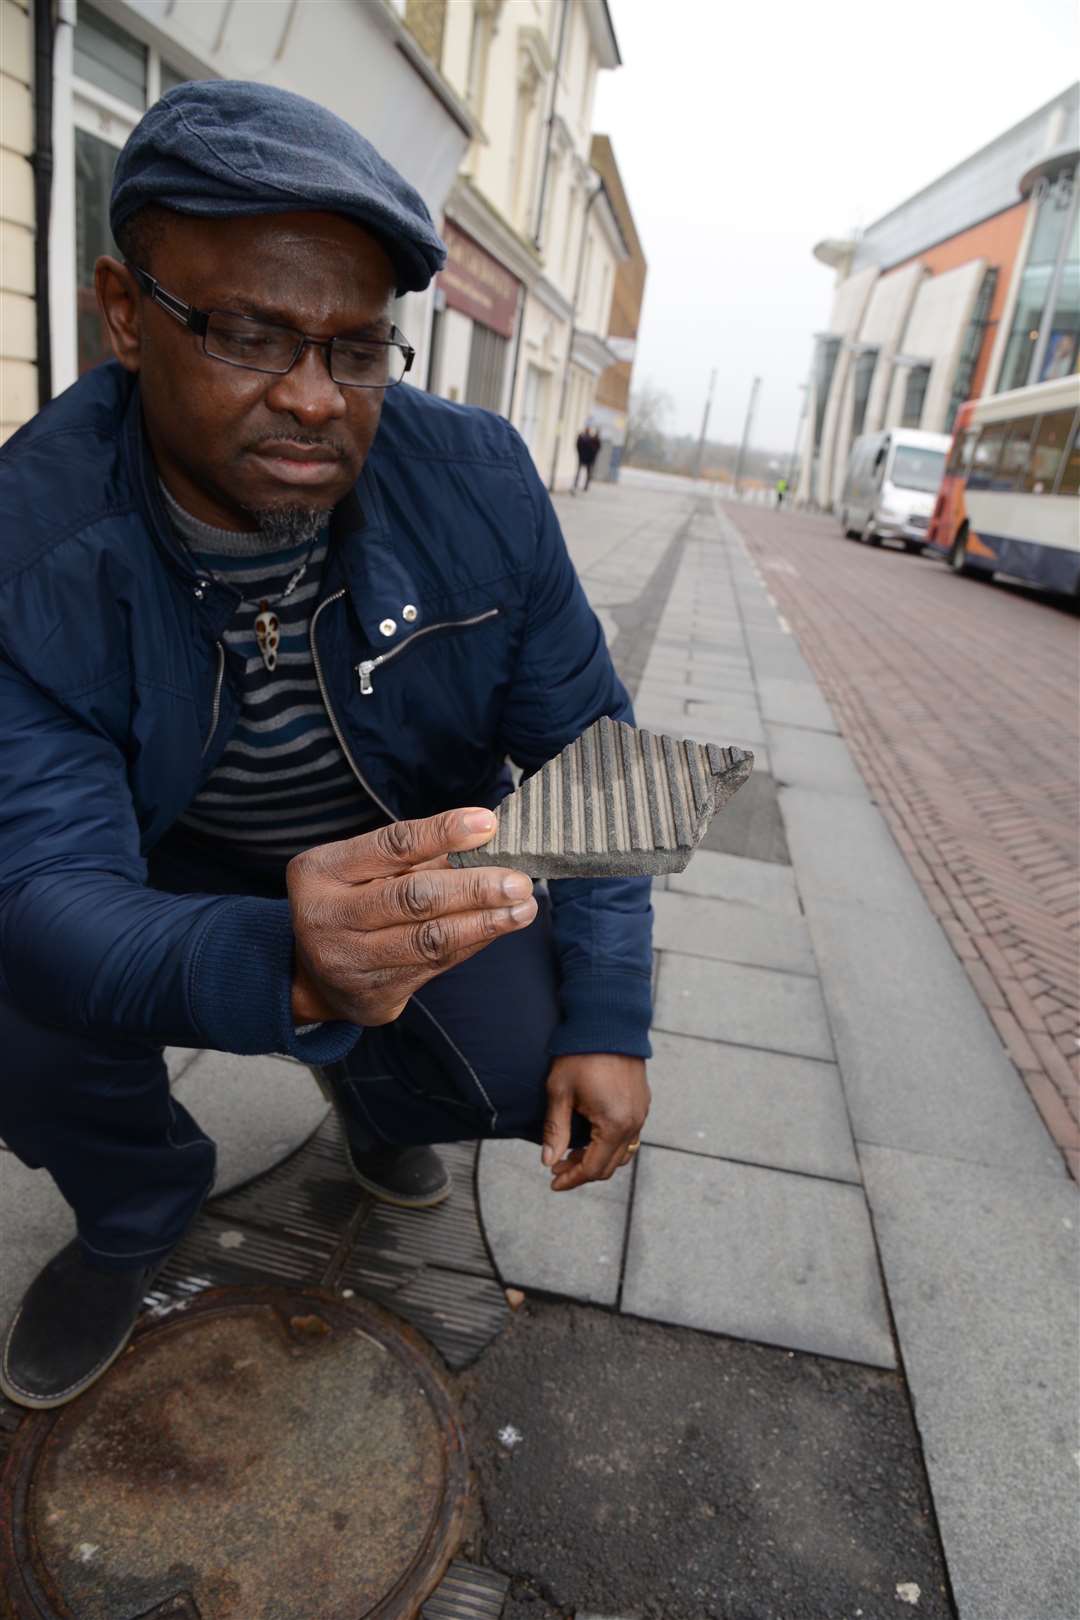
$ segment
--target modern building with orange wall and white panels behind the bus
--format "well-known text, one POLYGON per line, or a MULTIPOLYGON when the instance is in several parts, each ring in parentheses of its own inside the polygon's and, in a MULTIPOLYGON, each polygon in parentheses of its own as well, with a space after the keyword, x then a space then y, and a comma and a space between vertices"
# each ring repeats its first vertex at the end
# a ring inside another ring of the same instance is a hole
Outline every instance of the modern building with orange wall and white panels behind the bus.
POLYGON ((949 433, 965 399, 1077 368, 1078 112, 1074 84, 858 238, 818 243, 837 279, 814 337, 800 501, 840 499, 861 433, 949 433))

